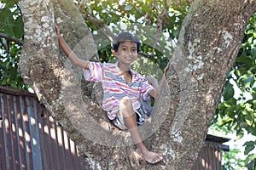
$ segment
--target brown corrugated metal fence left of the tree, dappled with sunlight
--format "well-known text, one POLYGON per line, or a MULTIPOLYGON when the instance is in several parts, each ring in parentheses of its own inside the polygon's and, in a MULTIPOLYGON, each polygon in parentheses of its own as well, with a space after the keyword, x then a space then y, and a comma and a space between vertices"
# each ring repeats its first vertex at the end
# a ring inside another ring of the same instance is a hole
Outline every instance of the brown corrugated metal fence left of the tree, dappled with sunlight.
POLYGON ((86 169, 77 147, 35 95, 0 88, 0 169, 86 169))

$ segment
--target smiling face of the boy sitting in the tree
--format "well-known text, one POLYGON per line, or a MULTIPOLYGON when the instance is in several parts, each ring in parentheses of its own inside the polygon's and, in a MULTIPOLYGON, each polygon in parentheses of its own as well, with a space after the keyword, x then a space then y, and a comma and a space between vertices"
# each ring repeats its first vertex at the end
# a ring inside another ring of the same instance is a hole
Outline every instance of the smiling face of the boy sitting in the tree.
POLYGON ((118 51, 113 51, 113 55, 119 59, 120 64, 131 65, 137 59, 137 43, 126 41, 119 44, 118 51))

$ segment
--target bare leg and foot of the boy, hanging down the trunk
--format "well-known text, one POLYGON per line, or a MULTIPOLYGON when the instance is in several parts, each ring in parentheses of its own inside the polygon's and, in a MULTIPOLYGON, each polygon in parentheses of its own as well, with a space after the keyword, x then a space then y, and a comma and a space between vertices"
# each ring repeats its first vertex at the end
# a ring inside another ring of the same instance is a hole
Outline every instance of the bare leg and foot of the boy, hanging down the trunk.
POLYGON ((149 151, 143 144, 143 139, 138 131, 137 117, 133 111, 131 99, 125 97, 121 99, 119 105, 119 111, 121 116, 124 118, 125 127, 131 133, 132 141, 137 145, 137 149, 142 154, 143 159, 149 163, 156 163, 162 160, 162 156, 157 153, 149 151))

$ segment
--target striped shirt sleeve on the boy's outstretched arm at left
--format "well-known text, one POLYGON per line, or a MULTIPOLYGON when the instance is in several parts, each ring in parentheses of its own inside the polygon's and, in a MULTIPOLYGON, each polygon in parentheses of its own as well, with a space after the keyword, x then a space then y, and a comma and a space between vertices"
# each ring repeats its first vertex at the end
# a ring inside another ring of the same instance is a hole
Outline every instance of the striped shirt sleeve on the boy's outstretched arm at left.
POLYGON ((102 63, 89 62, 89 69, 84 69, 84 79, 90 82, 100 82, 102 80, 102 63))

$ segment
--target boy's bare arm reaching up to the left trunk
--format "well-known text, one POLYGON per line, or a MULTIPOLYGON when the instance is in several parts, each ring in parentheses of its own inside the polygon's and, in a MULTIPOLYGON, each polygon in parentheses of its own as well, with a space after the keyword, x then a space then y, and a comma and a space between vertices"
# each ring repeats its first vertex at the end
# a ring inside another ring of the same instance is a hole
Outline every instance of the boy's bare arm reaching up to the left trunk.
POLYGON ((59 43, 61 48, 63 49, 64 53, 67 55, 68 59, 72 62, 73 65, 78 65, 82 68, 89 69, 88 60, 79 59, 79 57, 73 53, 73 51, 68 47, 67 42, 61 36, 60 29, 58 26, 55 26, 55 31, 58 36, 59 43))

